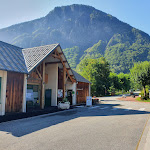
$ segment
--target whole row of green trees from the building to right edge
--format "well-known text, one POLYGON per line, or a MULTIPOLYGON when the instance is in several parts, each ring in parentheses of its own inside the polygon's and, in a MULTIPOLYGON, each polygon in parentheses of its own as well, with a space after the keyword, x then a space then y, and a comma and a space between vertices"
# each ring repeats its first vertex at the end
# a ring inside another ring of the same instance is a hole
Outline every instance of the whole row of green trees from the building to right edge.
POLYGON ((92 96, 114 94, 116 91, 127 92, 130 89, 144 89, 150 85, 150 62, 135 63, 129 74, 116 74, 111 71, 104 57, 83 59, 76 68, 77 72, 92 82, 92 96))

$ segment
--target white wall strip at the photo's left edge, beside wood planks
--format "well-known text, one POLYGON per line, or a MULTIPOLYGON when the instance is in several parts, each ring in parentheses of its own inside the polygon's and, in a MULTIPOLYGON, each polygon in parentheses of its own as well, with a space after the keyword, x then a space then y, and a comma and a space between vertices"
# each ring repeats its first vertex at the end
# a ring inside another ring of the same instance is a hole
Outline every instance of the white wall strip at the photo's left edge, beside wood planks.
POLYGON ((6 86, 7 86, 7 71, 0 70, 1 81, 1 102, 0 102, 0 115, 5 115, 6 103, 6 86))

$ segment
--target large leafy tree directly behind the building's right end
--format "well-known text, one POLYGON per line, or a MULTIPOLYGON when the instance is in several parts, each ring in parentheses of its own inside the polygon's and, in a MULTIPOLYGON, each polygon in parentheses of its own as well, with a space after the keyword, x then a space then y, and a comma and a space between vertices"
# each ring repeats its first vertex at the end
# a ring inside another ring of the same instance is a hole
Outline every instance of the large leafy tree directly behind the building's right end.
POLYGON ((105 58, 83 59, 78 65, 78 72, 92 82, 92 95, 105 95, 105 90, 109 87, 109 64, 105 58))

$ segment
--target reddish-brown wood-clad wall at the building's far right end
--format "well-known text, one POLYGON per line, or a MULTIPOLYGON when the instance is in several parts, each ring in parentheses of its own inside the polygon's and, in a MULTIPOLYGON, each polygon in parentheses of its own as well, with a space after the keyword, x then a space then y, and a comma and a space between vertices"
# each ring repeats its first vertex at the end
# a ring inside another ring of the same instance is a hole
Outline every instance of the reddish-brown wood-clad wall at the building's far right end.
POLYGON ((86 103, 87 96, 89 96, 89 84, 79 82, 77 84, 77 104, 86 103))

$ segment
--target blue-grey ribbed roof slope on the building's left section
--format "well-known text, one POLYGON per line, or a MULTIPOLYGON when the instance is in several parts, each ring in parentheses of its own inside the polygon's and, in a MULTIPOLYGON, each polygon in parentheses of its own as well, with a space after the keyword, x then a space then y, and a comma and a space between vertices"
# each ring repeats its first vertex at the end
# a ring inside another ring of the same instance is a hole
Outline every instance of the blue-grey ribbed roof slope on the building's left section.
POLYGON ((22 48, 0 41, 0 70, 28 73, 22 48))

